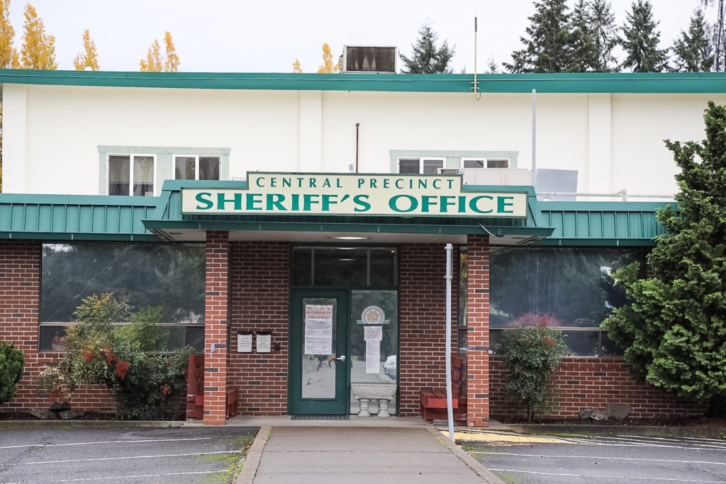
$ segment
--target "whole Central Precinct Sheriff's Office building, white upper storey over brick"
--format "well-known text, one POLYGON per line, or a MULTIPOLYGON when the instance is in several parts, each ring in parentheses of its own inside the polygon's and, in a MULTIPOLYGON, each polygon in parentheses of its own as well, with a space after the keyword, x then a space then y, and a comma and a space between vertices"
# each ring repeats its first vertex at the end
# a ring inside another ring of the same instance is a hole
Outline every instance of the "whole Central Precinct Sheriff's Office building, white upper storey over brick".
MULTIPOLYGON (((0 83, 0 341, 26 358, 0 411, 48 403, 33 378, 62 356, 81 300, 113 292, 163 306, 171 345, 203 351, 205 423, 225 422, 229 387, 242 415, 417 416, 419 391, 444 387, 449 243, 468 425, 515 413, 497 342, 540 321, 572 352, 555 417, 706 408, 632 380, 600 321, 623 302, 610 272, 664 231, 677 167, 663 140, 703 138, 723 73, 0 83), (362 402, 359 385, 385 398, 362 402)), ((71 403, 113 411, 102 387, 71 403)))

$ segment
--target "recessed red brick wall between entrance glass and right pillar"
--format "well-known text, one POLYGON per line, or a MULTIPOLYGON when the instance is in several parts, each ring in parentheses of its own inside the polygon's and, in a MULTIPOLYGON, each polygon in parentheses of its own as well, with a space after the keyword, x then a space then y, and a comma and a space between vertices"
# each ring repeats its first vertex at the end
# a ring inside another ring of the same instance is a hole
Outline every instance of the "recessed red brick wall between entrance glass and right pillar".
MULTIPOLYGON (((452 279, 452 348, 457 348, 458 255, 454 250, 452 279)), ((420 414, 418 392, 444 387, 446 374, 446 251, 444 244, 401 246, 401 355, 399 356, 402 417, 420 414)))

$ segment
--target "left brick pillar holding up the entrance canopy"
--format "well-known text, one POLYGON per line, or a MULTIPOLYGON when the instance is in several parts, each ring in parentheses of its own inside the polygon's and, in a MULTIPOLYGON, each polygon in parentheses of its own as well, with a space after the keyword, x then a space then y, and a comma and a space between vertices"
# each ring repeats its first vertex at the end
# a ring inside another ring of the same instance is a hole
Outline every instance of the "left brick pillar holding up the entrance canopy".
POLYGON ((229 233, 208 231, 204 311, 204 423, 223 425, 227 392, 229 233))

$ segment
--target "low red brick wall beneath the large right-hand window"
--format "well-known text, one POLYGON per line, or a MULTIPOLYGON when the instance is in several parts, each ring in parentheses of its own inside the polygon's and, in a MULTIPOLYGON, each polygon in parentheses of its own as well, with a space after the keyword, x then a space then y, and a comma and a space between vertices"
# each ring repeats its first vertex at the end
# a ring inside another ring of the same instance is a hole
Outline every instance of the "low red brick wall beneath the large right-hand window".
MULTIPOLYGON (((634 418, 671 418, 703 415, 707 405, 687 403, 646 383, 635 382, 621 358, 566 358, 552 378, 559 393, 558 409, 552 418, 577 417, 582 407, 605 408, 608 403, 629 403, 634 418)), ((523 411, 507 401, 504 394, 505 372, 502 358, 489 363, 492 380, 492 417, 521 418, 523 411)))

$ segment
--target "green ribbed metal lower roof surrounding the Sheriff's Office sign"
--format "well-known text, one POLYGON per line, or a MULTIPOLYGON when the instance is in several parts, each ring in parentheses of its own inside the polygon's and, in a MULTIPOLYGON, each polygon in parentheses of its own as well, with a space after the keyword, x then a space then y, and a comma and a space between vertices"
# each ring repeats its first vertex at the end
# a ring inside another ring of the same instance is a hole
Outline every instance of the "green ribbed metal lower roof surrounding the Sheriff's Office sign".
MULTIPOLYGON (((245 188, 241 181, 218 181, 245 188)), ((526 219, 383 216, 183 216, 181 187, 166 181, 161 197, 0 194, 0 239, 158 242, 148 230, 350 231, 400 234, 523 235, 537 245, 633 247, 664 233, 655 212, 664 202, 539 202, 531 187, 526 219), (550 236, 551 234, 551 236, 550 236), (548 237, 549 236, 549 237, 548 237), (542 238, 547 237, 547 238, 542 238)), ((523 187, 515 187, 523 188, 523 187)), ((466 186, 467 191, 513 187, 466 186)))

